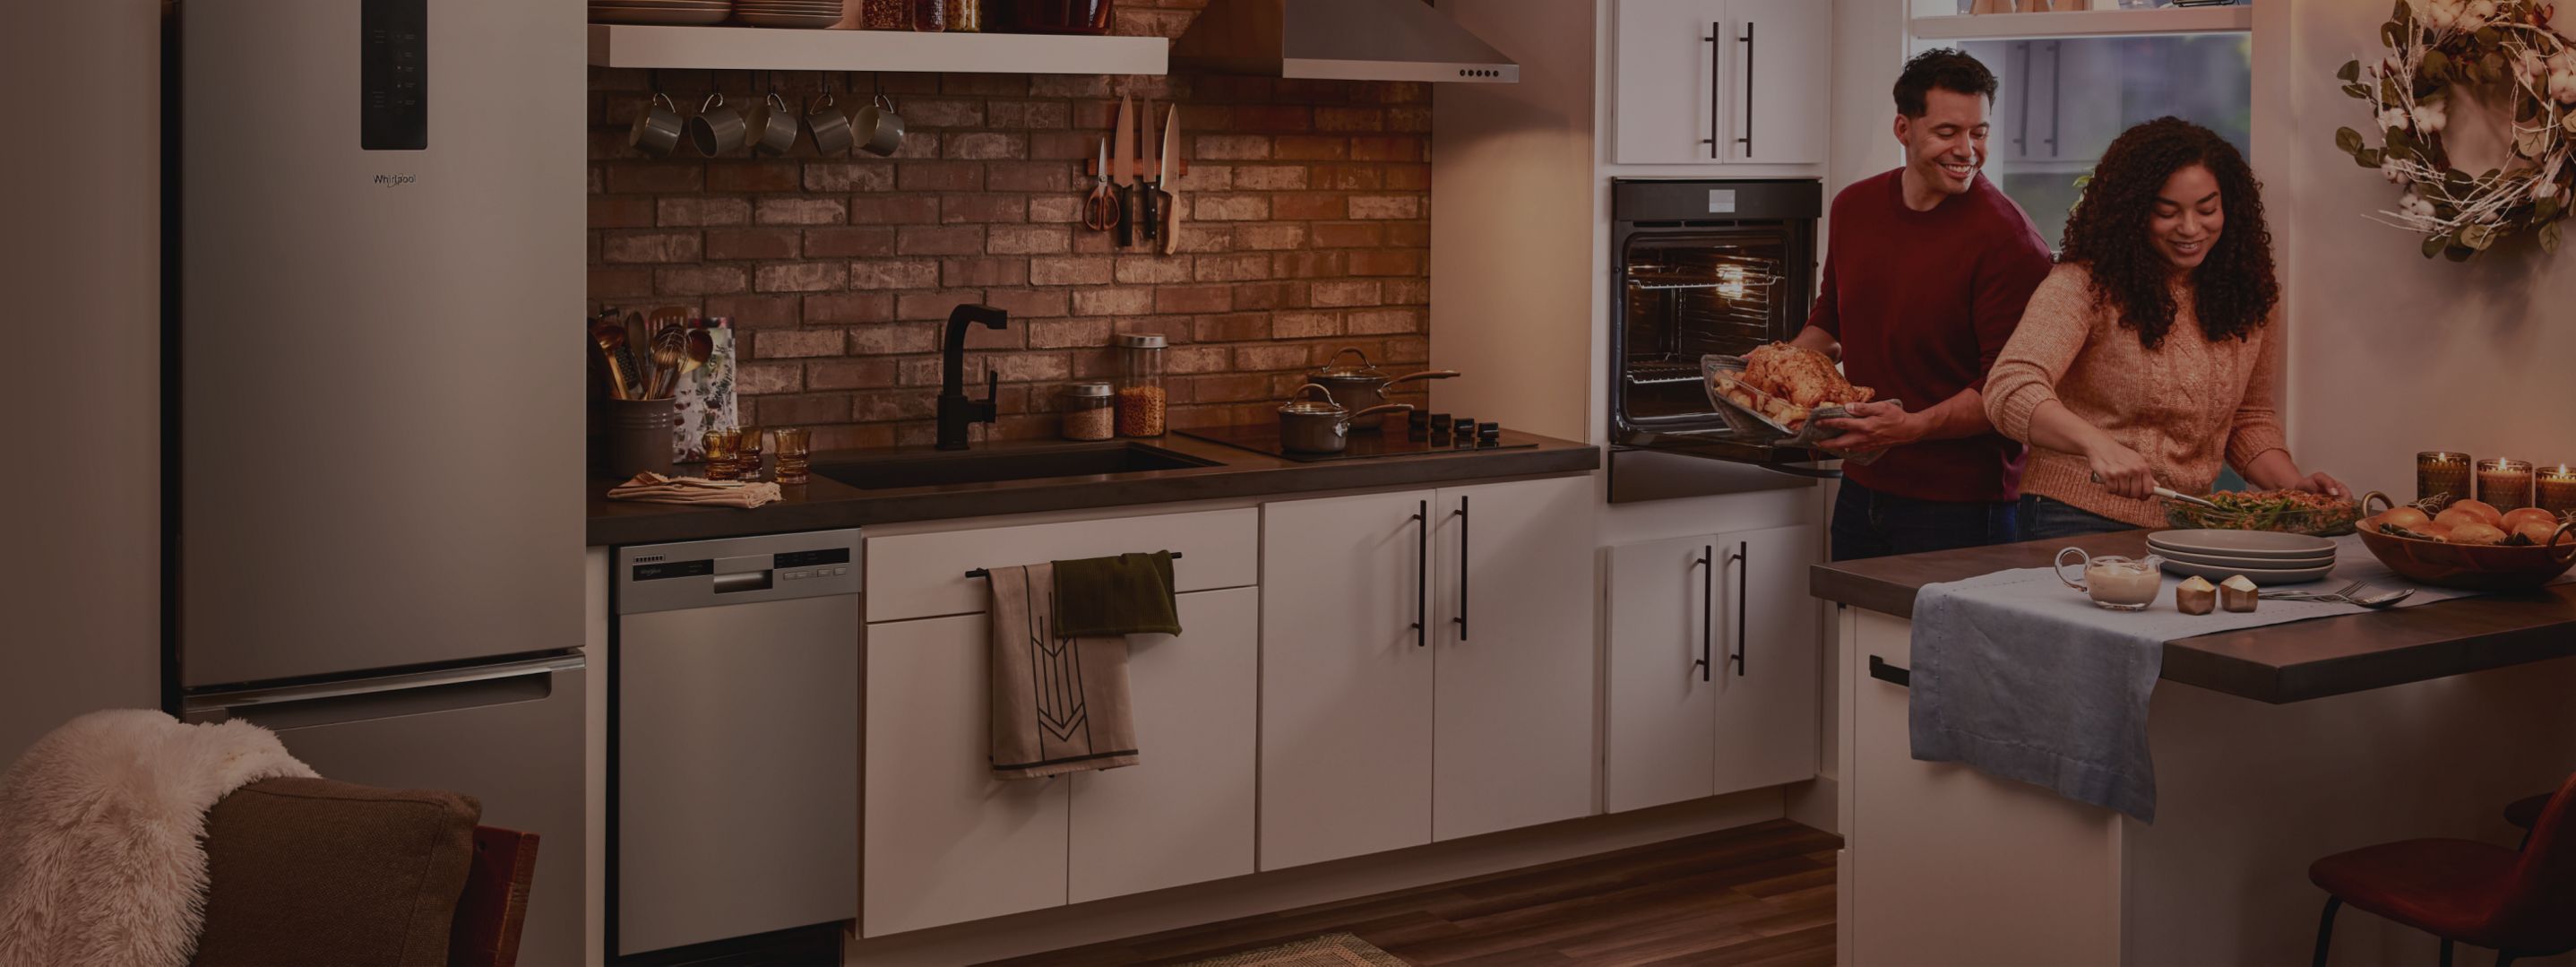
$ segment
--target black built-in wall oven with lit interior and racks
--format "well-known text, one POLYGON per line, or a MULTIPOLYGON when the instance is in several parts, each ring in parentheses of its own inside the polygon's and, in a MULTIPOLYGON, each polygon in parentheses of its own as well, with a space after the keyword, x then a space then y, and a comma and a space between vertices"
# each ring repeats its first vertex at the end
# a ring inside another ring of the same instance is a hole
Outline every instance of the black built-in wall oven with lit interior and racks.
POLYGON ((1736 431, 1700 356, 1788 340, 1816 294, 1824 186, 1610 183, 1610 500, 1808 487, 1824 454, 1736 431))

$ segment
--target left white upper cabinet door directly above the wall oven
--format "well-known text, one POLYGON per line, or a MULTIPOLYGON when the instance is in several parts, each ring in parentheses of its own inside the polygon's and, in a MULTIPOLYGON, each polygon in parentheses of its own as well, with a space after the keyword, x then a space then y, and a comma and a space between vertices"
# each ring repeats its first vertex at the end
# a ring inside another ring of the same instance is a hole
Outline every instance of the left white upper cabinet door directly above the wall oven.
POLYGON ((1728 0, 1618 0, 1610 160, 1718 162, 1718 46, 1728 0))

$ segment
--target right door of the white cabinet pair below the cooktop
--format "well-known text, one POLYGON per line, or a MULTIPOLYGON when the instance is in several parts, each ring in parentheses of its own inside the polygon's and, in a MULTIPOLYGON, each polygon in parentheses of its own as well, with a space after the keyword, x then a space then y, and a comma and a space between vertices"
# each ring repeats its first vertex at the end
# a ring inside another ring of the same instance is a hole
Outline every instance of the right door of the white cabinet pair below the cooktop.
POLYGON ((1589 477, 1432 500, 1432 838, 1592 812, 1589 477))

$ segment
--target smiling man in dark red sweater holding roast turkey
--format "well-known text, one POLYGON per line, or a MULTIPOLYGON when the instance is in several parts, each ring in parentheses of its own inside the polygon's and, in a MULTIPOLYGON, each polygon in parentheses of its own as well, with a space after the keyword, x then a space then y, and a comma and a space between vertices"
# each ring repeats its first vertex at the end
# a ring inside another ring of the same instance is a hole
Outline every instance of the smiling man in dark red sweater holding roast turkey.
POLYGON ((1842 431, 1829 449, 1886 451, 1842 467, 1834 560, 2014 539, 2022 444, 1986 423, 1981 389, 2050 258, 2022 206, 1978 175, 1994 88, 1958 49, 1906 62, 1906 165, 1834 196, 1824 291, 1795 346, 1842 358, 1855 384, 1893 400, 1824 423, 1842 431))

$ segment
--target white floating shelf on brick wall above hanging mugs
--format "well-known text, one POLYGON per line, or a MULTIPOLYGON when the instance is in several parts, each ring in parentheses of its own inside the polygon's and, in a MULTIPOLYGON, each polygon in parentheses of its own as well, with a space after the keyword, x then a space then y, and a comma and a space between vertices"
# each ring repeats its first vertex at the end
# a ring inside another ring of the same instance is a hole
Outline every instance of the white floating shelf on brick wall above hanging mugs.
POLYGON ((974 75, 1164 75, 1159 36, 786 31, 760 26, 590 26, 592 67, 896 70, 974 75))

